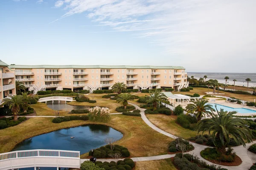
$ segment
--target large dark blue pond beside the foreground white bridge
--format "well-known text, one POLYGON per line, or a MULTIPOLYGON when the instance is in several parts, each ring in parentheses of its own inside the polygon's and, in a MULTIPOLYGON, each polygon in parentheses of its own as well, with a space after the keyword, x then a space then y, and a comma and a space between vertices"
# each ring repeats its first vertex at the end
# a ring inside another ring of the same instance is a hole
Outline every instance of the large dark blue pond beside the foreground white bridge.
MULTIPOLYGON (((106 138, 119 140, 122 133, 105 125, 83 125, 78 127, 65 128, 50 133, 34 136, 18 144, 15 150, 32 149, 53 149, 53 150, 74 150, 80 154, 87 153, 105 145, 106 138), (70 136, 74 136, 71 139, 70 136)), ((56 170, 56 168, 41 167, 41 170, 56 170)), ((65 168, 61 168, 64 170, 65 168)), ((32 168, 20 168, 20 170, 34 170, 32 168)))

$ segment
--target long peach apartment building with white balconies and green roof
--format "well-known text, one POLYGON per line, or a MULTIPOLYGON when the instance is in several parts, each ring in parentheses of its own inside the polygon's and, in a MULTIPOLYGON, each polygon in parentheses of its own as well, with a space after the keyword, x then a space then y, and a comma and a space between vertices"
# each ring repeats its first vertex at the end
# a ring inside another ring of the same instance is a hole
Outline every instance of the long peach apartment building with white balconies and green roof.
POLYGON ((63 89, 92 92, 111 89, 115 82, 124 82, 128 88, 139 90, 163 87, 179 90, 188 86, 185 68, 175 66, 9 65, 9 68, 15 74, 11 82, 23 82, 34 94, 63 89))

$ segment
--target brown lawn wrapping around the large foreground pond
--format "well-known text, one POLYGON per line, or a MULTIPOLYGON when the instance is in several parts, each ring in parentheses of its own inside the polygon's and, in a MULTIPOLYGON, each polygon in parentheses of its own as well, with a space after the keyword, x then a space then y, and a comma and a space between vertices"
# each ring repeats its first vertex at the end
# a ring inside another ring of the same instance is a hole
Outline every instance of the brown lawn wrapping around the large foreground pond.
MULTIPOLYGON (((11 151, 23 140, 43 133, 79 125, 102 124, 113 127, 124 134, 117 144, 127 147, 131 157, 167 154, 168 144, 173 139, 148 127, 141 117, 112 115, 111 118, 108 123, 76 120, 58 124, 52 123, 53 118, 31 118, 20 125, 0 130, 0 153, 11 151)), ((81 158, 86 155, 82 155, 81 158)))

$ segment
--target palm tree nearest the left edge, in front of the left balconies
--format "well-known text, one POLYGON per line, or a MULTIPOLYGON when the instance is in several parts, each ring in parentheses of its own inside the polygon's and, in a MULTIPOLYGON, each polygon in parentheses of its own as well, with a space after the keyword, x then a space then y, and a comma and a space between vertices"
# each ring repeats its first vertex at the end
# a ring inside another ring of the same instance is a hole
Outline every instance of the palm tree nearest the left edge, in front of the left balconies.
POLYGON ((23 97, 21 95, 14 95, 10 98, 3 99, 2 105, 9 105, 9 109, 11 109, 12 114, 14 115, 14 120, 18 119, 18 114, 20 112, 20 105, 23 104, 23 97))

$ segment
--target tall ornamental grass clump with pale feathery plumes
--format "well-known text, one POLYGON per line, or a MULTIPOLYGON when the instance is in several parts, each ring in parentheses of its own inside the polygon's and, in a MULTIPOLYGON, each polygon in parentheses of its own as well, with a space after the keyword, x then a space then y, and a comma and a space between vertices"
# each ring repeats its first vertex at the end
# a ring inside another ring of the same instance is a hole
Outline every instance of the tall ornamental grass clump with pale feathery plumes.
POLYGON ((96 122, 108 122, 110 120, 110 112, 108 108, 101 108, 99 106, 89 109, 89 119, 90 121, 96 122))

